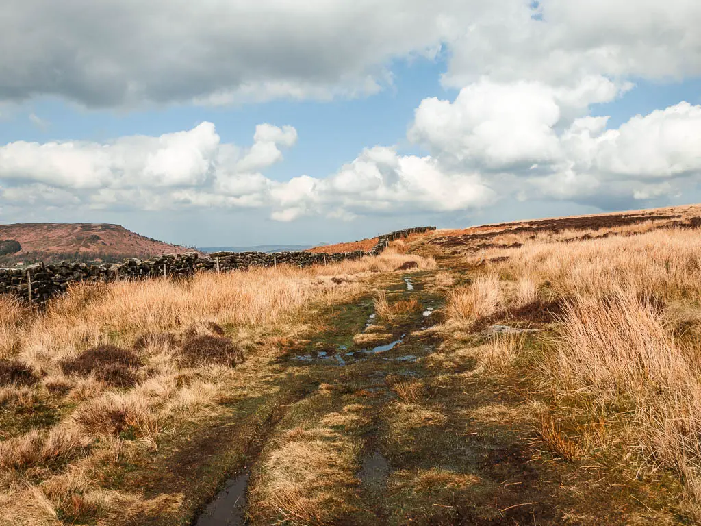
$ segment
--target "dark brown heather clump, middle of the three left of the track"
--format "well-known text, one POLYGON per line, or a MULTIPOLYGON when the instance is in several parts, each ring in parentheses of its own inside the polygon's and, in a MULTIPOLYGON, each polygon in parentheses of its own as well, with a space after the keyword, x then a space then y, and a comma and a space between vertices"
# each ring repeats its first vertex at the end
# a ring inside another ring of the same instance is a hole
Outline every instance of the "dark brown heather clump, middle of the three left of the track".
POLYGON ((95 375, 106 384, 125 387, 136 382, 136 370, 141 365, 134 351, 114 345, 88 349, 71 360, 63 360, 61 368, 67 375, 95 375))

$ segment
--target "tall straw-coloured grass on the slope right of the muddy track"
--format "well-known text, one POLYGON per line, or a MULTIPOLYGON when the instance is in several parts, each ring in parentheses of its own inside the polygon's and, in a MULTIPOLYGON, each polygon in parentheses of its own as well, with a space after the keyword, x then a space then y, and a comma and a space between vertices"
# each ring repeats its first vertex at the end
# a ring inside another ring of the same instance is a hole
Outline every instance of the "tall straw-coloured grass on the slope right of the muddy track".
MULTIPOLYGON (((498 304, 497 291, 507 286, 519 291, 517 303, 541 293, 559 299, 557 337, 533 355, 536 367, 524 373, 543 392, 569 400, 568 406, 580 400, 576 412, 591 412, 592 422, 602 412, 618 415, 614 420, 625 422, 618 441, 623 454, 676 472, 698 511, 701 236, 644 227, 637 236, 536 239, 522 248, 494 250, 488 257, 508 259, 456 292, 448 311, 458 321, 486 316, 498 304), (497 271, 509 283, 500 284, 497 271)), ((501 367, 511 357, 497 352, 484 358, 501 367)), ((545 428, 547 436, 559 433, 545 428)))

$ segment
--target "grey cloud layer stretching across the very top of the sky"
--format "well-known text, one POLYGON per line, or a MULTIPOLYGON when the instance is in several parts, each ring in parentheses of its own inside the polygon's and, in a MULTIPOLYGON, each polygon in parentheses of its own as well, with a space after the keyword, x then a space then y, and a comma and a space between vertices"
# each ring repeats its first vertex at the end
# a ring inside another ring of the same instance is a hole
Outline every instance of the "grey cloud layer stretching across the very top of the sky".
POLYGON ((0 100, 88 107, 368 95, 441 49, 456 88, 701 74, 695 0, 26 0, 0 25, 0 100))

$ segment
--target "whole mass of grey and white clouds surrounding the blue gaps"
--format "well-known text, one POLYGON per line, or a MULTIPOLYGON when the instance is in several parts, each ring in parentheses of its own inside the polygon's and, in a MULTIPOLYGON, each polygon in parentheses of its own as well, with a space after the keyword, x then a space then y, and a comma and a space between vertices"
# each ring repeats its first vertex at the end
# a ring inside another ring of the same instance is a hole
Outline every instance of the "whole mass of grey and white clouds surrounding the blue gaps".
POLYGON ((510 197, 644 205, 701 174, 700 106, 618 129, 591 116, 636 79, 701 76, 695 0, 27 0, 0 23, 1 104, 357 97, 417 56, 445 60, 442 83, 459 90, 416 108, 407 138, 425 155, 368 145, 321 178, 265 175, 297 142, 292 126, 268 123, 248 146, 222 142, 211 122, 105 143, 11 142, 0 147, 6 210, 242 208, 289 222, 465 214, 510 197))

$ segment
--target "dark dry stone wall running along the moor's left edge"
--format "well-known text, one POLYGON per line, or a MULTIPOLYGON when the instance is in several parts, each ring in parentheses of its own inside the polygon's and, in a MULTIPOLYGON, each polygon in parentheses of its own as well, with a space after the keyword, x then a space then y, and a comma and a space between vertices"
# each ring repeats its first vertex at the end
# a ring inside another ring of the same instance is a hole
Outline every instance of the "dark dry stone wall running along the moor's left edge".
POLYGON ((64 292, 70 283, 109 282, 121 279, 142 279, 158 276, 186 278, 197 272, 228 272, 250 267, 274 267, 290 264, 308 267, 313 264, 339 262, 343 259, 360 259, 378 255, 390 241, 405 238, 409 234, 435 230, 435 227, 416 227, 398 230, 379 236, 376 245, 369 250, 315 254, 313 252, 215 252, 200 256, 189 254, 165 255, 156 259, 125 259, 118 264, 88 265, 85 263, 34 264, 26 269, 0 269, 0 294, 17 295, 31 302, 46 302, 64 292))

